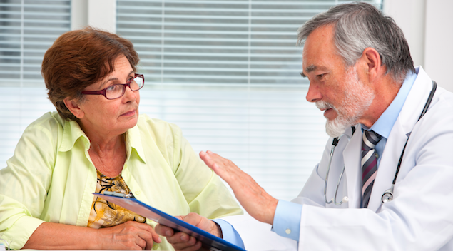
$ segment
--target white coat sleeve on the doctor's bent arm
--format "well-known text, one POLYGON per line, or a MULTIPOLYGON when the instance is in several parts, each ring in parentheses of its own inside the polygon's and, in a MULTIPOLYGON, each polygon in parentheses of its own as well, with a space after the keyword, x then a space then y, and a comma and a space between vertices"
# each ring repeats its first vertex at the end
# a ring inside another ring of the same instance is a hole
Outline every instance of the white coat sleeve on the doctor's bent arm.
POLYGON ((414 127, 394 200, 377 212, 304 205, 299 250, 447 250, 453 238, 452 108, 442 102, 414 127))

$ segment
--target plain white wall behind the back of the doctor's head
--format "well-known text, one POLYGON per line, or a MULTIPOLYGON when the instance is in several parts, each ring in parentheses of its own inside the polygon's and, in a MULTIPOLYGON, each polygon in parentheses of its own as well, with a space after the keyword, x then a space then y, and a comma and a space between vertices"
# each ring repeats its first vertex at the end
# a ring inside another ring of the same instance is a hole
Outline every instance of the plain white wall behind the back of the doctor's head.
POLYGON ((384 12, 406 36, 415 66, 439 86, 453 91, 452 0, 384 0, 384 12))

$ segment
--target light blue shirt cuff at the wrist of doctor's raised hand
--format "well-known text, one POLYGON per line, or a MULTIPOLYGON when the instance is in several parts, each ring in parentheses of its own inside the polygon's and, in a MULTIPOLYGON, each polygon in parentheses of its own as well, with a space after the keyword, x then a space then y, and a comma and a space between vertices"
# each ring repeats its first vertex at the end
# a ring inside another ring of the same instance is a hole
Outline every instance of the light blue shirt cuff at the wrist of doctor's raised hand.
POLYGON ((299 241, 302 205, 278 200, 275 208, 272 231, 276 234, 299 241))

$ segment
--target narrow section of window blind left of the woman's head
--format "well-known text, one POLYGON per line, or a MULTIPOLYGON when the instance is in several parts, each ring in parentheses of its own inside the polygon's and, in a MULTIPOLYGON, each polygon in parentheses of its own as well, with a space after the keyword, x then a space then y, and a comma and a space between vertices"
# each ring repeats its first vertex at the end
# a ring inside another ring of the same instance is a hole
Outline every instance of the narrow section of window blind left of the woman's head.
POLYGON ((70 0, 0 1, 0 168, 22 132, 47 111, 41 62, 54 40, 70 30, 70 0))

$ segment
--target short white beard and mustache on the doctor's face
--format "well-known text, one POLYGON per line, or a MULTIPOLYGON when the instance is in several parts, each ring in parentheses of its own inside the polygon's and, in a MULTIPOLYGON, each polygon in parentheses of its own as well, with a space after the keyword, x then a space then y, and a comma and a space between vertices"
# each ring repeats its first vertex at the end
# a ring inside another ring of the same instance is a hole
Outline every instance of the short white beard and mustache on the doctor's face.
POLYGON ((360 116, 375 99, 374 91, 359 80, 355 66, 347 70, 343 95, 344 99, 338 107, 325 101, 316 102, 317 108, 321 110, 332 108, 337 113, 337 118, 327 119, 325 123, 327 134, 334 138, 340 137, 348 127, 357 124, 360 116))

